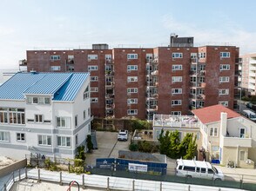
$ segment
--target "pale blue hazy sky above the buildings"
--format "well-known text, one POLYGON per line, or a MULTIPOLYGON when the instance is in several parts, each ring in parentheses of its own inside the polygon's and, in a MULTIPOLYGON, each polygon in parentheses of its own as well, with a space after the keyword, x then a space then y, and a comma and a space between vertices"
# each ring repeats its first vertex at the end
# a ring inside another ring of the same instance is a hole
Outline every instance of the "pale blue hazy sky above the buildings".
POLYGON ((196 46, 256 52, 255 0, 0 0, 0 69, 18 69, 32 49, 167 46, 170 35, 196 46))

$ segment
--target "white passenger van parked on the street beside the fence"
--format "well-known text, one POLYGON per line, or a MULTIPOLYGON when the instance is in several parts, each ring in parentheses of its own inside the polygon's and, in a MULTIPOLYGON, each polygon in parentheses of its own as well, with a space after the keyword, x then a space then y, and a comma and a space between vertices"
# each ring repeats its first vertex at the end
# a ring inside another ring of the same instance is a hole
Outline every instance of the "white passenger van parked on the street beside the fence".
POLYGON ((177 160, 176 175, 224 181, 223 173, 207 161, 177 160))

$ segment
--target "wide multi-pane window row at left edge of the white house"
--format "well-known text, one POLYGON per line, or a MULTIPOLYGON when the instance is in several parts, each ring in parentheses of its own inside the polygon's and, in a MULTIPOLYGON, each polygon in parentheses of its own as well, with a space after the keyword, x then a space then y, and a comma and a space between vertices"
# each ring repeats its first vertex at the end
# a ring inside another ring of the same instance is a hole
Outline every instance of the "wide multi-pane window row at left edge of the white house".
POLYGON ((0 108, 0 122, 8 121, 10 124, 25 124, 25 109, 0 108))

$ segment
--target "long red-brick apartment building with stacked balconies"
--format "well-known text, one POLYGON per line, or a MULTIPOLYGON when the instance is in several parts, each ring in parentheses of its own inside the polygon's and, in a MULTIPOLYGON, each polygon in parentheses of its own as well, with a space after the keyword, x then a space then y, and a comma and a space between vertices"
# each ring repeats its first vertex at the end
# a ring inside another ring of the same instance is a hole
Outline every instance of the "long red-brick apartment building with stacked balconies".
POLYGON ((99 118, 152 120, 153 114, 189 115, 219 103, 236 108, 239 48, 181 46, 174 40, 154 49, 94 44, 92 49, 27 50, 21 65, 28 71, 90 72, 91 114, 99 118))

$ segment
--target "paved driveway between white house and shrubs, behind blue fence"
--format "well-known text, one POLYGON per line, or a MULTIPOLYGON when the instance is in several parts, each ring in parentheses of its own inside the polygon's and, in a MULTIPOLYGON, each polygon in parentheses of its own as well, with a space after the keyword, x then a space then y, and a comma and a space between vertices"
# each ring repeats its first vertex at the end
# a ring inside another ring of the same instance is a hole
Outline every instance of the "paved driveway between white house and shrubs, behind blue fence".
POLYGON ((96 165, 97 158, 118 158, 118 150, 129 150, 131 135, 127 142, 118 142, 118 133, 97 131, 98 149, 86 155, 87 165, 96 165))

